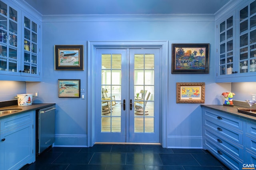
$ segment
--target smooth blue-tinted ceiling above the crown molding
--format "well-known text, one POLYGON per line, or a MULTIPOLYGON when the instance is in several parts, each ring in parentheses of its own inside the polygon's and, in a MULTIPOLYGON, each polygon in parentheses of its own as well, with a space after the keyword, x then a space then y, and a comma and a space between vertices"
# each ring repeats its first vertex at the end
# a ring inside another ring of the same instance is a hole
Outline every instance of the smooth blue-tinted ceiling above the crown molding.
POLYGON ((232 0, 23 0, 42 15, 214 14, 232 0))

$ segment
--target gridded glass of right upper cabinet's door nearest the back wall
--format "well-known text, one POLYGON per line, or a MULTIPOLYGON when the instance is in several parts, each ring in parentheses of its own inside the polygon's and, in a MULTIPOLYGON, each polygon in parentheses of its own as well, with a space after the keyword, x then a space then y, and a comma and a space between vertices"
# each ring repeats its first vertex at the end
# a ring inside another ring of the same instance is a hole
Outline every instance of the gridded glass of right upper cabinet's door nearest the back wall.
POLYGON ((234 63, 234 24, 233 16, 221 22, 219 28, 219 75, 229 75, 234 63))

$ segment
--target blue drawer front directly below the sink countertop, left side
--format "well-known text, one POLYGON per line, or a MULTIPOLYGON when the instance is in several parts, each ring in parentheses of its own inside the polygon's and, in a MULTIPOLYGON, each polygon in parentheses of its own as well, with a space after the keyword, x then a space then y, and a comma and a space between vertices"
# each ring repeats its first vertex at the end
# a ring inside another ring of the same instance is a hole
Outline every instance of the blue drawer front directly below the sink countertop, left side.
POLYGON ((21 113, 20 115, 14 115, 8 118, 1 119, 0 121, 0 132, 8 128, 13 128, 23 123, 29 123, 33 121, 33 111, 21 113))

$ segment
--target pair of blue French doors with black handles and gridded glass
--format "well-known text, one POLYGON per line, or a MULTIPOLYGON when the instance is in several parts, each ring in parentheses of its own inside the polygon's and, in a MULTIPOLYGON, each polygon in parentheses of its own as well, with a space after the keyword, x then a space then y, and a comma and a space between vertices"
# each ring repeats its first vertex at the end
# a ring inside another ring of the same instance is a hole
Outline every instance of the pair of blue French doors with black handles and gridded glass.
POLYGON ((159 143, 160 49, 96 50, 96 142, 159 143))

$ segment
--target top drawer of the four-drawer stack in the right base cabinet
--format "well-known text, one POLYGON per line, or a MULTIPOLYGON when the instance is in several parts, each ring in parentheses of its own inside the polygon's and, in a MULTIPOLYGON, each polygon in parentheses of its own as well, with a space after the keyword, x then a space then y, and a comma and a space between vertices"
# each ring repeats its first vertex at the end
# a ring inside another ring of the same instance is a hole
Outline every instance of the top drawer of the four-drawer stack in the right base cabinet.
POLYGON ((220 113, 218 111, 216 111, 216 112, 206 111, 205 118, 212 119, 214 121, 223 123, 232 128, 237 128, 239 130, 243 130, 243 121, 240 120, 238 117, 234 117, 232 115, 220 113))

